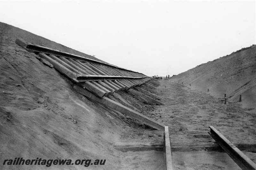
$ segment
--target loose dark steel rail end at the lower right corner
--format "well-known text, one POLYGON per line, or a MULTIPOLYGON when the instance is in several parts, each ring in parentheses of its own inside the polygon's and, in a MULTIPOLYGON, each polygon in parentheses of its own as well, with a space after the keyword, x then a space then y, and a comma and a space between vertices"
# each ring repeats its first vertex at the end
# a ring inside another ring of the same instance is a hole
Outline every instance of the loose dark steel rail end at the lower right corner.
POLYGON ((211 131, 209 134, 212 138, 227 152, 227 154, 240 166, 243 170, 256 170, 256 164, 252 162, 243 152, 241 152, 234 144, 232 144, 226 137, 215 129, 213 126, 209 126, 211 131))

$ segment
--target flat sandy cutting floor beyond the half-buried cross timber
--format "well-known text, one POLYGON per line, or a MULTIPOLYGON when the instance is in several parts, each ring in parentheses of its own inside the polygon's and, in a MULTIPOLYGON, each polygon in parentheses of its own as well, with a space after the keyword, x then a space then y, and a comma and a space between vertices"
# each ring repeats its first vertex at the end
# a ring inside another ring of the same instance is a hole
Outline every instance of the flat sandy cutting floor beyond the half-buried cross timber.
POLYGON ((173 143, 211 142, 207 134, 209 126, 233 143, 255 143, 255 109, 242 108, 239 103, 225 105, 210 94, 191 90, 173 80, 162 80, 158 92, 166 106, 158 106, 151 117, 170 127, 173 143))

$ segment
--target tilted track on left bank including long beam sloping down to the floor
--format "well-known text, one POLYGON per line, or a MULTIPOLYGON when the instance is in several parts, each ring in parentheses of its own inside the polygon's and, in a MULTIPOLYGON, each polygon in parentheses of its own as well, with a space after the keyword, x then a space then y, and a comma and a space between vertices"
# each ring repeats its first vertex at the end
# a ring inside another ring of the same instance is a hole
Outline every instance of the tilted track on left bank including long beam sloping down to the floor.
POLYGON ((154 129, 164 131, 164 125, 162 123, 156 122, 147 116, 141 115, 140 113, 115 102, 114 100, 106 98, 106 96, 113 94, 114 92, 118 92, 119 90, 128 90, 144 84, 144 88, 147 87, 147 91, 142 89, 143 87, 139 90, 144 94, 147 92, 147 95, 156 98, 151 98, 150 100, 148 98, 149 101, 162 105, 161 102, 156 101, 161 98, 156 94, 153 94, 155 87, 159 84, 153 81, 152 78, 138 72, 126 70, 82 56, 28 44, 22 39, 17 39, 15 42, 29 52, 39 55, 41 59, 52 64, 54 69, 60 71, 62 74, 73 80, 76 83, 74 86, 76 91, 85 95, 87 98, 113 108, 153 127, 154 129), (149 80, 152 81, 149 83, 149 80))

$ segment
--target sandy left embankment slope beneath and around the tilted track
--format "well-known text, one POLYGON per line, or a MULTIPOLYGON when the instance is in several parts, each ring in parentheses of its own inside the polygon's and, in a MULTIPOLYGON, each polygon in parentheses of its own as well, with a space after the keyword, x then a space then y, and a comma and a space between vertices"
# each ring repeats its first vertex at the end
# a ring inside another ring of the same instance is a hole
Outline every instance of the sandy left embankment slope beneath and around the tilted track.
MULTIPOLYGON (((140 122, 74 91, 70 80, 15 44, 16 38, 98 60, 0 23, 0 169, 46 169, 43 165, 3 165, 4 159, 19 157, 73 162, 106 159, 104 166, 52 165, 47 169, 130 169, 140 164, 146 169, 163 169, 162 152, 145 151, 136 155, 114 149, 116 142, 124 142, 126 138, 139 136, 147 140, 149 133, 162 135, 162 132, 145 129, 140 122)), ((129 94, 125 95, 129 98, 129 94)), ((141 108, 150 107, 131 96, 130 100, 141 108)), ((133 107, 130 105, 127 106, 133 107)), ((163 137, 156 140, 162 141, 163 137)))

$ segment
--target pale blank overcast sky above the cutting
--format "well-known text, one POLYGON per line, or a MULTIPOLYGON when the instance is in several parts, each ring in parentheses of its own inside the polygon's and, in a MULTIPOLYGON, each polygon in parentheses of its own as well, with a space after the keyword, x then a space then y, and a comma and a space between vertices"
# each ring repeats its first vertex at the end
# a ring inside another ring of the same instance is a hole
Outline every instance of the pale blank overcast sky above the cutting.
POLYGON ((0 1, 0 21, 147 76, 255 43, 255 1, 0 1))

